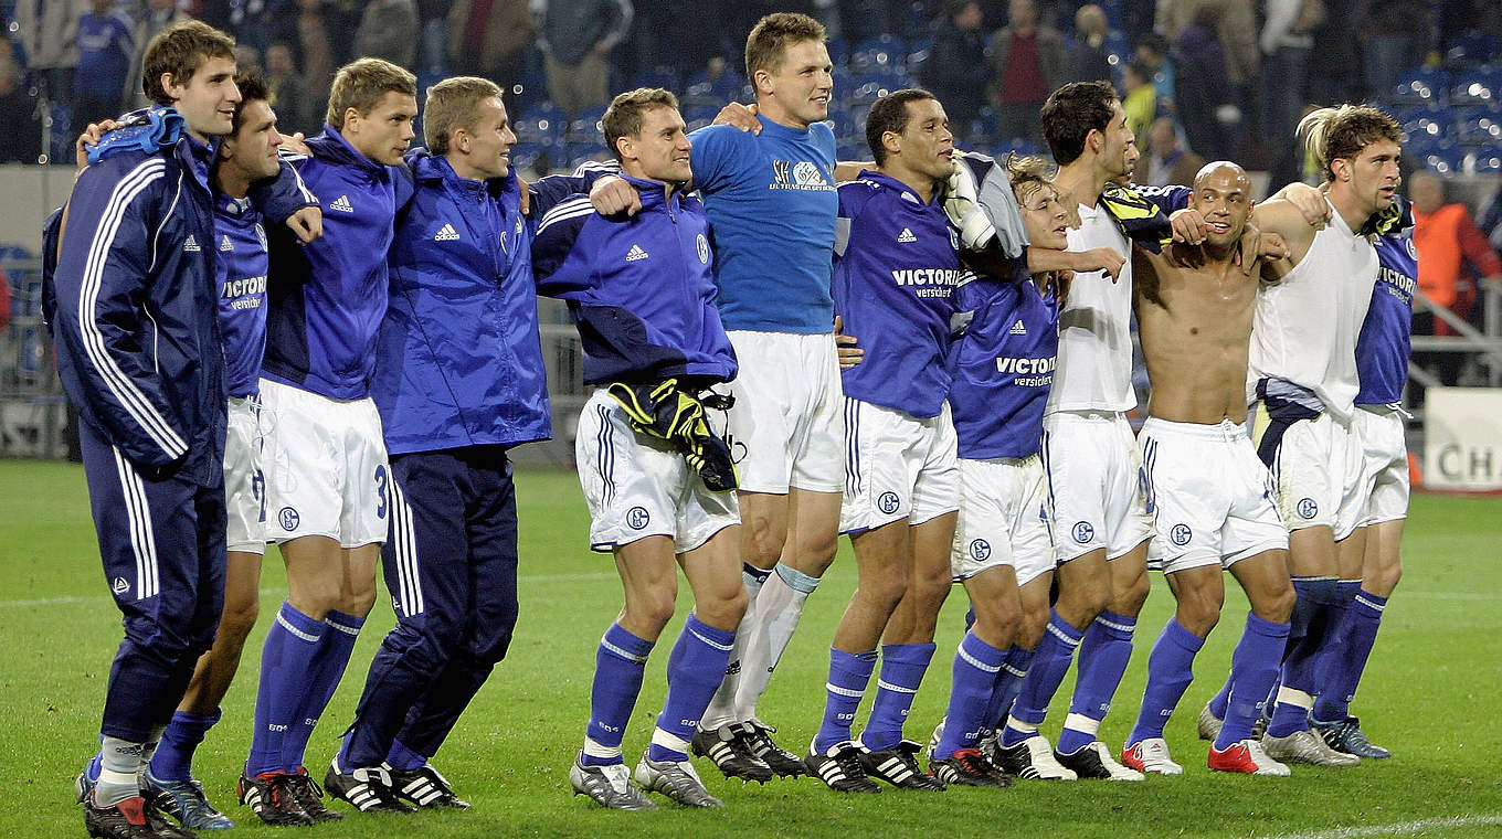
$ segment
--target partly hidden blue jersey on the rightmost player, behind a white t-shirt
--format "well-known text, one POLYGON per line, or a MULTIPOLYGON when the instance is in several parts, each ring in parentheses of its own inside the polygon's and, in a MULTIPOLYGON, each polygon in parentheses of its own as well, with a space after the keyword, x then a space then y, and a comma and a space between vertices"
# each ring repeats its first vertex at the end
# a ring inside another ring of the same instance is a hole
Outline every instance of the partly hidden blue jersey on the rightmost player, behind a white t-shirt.
POLYGON ((1391 405, 1403 399, 1413 333, 1413 288, 1418 285, 1413 231, 1382 236, 1376 245, 1377 284, 1356 338, 1358 405, 1391 405))

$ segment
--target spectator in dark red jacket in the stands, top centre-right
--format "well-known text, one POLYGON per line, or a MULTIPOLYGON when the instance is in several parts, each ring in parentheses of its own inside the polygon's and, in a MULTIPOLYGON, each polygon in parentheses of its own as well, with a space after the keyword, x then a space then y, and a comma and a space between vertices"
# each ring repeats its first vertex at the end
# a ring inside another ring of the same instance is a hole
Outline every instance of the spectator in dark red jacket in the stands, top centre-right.
POLYGON ((1033 0, 1011 0, 1006 27, 991 36, 991 104, 1002 137, 1038 143, 1038 113, 1062 86, 1063 38, 1039 26, 1033 0))

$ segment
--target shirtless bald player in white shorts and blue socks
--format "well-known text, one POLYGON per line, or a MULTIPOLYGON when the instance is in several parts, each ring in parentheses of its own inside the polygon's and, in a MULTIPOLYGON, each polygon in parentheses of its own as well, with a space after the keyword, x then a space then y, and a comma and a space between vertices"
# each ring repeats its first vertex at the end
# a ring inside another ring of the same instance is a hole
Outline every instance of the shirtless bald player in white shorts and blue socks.
POLYGON ((1257 279, 1236 264, 1236 249, 1251 206, 1247 173, 1230 162, 1209 164, 1190 197, 1190 209, 1205 219, 1205 243, 1173 245, 1163 254, 1139 246, 1133 254, 1137 323, 1152 383, 1139 437, 1148 509, 1157 512, 1149 560, 1178 600, 1148 659, 1142 711, 1122 749, 1122 764, 1139 771, 1184 771, 1169 756, 1163 729, 1194 678, 1196 653, 1220 620, 1226 569, 1247 591, 1251 614, 1232 654, 1230 708, 1209 767, 1289 774, 1251 737, 1293 611, 1287 531, 1245 426, 1257 279))

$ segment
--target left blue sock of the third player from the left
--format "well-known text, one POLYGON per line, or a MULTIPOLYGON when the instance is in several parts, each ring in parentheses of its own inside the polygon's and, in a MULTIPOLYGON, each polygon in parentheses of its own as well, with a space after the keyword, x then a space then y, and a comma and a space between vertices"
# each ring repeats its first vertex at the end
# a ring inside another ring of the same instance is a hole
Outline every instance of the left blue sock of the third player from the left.
MULTIPOLYGON (((261 647, 261 681, 255 693, 255 729, 245 773, 281 771, 282 743, 297 719, 308 669, 329 624, 282 603, 261 647)), ((332 630, 330 630, 332 632, 332 630)))

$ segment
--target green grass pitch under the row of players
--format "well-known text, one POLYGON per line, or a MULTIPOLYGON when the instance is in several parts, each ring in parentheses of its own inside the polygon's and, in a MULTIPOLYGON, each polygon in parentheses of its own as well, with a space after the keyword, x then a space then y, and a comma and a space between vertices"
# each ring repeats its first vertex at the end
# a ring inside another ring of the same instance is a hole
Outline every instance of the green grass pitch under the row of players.
MULTIPOLYGON (((1395 758, 1358 768, 1295 767, 1292 779, 1232 777, 1205 768, 1194 714, 1218 687, 1241 632, 1235 585, 1226 620, 1197 662, 1169 725, 1178 779, 1145 783, 1039 783, 1014 789, 840 797, 801 779, 730 783, 700 771, 722 812, 664 806, 602 812, 574 797, 568 765, 583 737, 595 645, 620 605, 607 557, 586 549, 586 513, 569 473, 518 476, 521 620, 509 657, 460 720, 436 764, 475 803, 461 813, 354 815, 312 828, 272 830, 233 800, 249 741, 264 626, 285 594, 281 563, 264 569, 261 623, 246 645, 224 722, 198 752, 210 798, 242 827, 233 836, 1502 836, 1502 500, 1416 495, 1404 542, 1406 578, 1386 611, 1355 711, 1395 758)), ((0 461, 0 836, 81 836, 72 777, 93 750, 119 612, 102 579, 80 467, 0 461)), ((804 747, 823 707, 828 642, 855 585, 841 546, 762 704, 780 741, 804 747)), ((688 608, 686 585, 679 618, 688 608)), ((1119 746, 1142 696, 1148 650, 1172 609, 1161 581, 1143 612, 1137 648, 1102 738, 1119 746)), ((909 737, 927 740, 948 698, 949 657, 964 614, 955 591, 940 623, 939 654, 913 707, 909 737)), ((365 669, 392 624, 377 600, 350 671, 308 752, 312 773, 348 723, 365 669)), ((664 695, 674 621, 647 668, 626 734, 628 759, 650 735, 664 695)), ((1069 684, 1045 731, 1056 732, 1069 684)), ((862 710, 864 714, 864 710, 862 710)), ((342 804, 338 807, 348 812, 342 804)))

